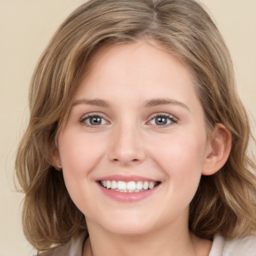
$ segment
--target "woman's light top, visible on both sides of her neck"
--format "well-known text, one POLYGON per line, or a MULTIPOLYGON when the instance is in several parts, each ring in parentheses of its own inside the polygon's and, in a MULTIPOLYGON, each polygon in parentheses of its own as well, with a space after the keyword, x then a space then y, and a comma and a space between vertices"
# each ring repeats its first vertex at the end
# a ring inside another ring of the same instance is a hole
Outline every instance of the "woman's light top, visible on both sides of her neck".
MULTIPOLYGON (((43 256, 82 256, 84 235, 73 239, 67 244, 55 248, 43 256)), ((256 236, 244 238, 225 239, 220 234, 215 234, 212 247, 208 256, 256 256, 256 236)))

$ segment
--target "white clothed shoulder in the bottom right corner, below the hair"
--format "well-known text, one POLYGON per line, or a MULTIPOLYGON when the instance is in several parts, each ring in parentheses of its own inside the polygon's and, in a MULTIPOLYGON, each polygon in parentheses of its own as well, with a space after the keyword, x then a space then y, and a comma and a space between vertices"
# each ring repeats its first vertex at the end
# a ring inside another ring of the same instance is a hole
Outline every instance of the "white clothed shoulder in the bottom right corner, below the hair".
POLYGON ((227 239, 216 234, 209 256, 256 256, 256 235, 227 239))

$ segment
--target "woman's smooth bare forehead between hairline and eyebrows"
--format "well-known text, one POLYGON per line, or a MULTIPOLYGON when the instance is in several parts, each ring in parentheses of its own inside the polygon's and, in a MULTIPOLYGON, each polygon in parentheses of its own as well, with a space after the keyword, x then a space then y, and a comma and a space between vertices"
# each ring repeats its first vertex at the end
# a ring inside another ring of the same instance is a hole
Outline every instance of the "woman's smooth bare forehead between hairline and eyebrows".
POLYGON ((160 83, 166 82, 166 78, 169 83, 177 82, 179 86, 193 83, 190 69, 159 44, 144 41, 108 44, 90 55, 79 87, 86 84, 92 88, 102 80, 105 85, 106 81, 115 80, 120 87, 129 83, 129 86, 139 89, 146 83, 148 86, 154 84, 150 88, 157 89, 160 83))

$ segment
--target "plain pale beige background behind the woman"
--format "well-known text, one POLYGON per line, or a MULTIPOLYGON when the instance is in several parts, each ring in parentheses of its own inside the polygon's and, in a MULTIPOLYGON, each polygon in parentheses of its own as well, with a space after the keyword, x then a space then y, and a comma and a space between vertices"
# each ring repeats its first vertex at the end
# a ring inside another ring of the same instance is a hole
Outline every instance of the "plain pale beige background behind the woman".
MULTIPOLYGON (((28 120, 35 63, 56 27, 84 0, 0 0, 0 256, 32 255, 13 186, 15 149, 28 120)), ((238 91, 256 118, 256 1, 202 0, 231 52, 238 91)), ((253 122, 254 135, 255 122, 253 122)))

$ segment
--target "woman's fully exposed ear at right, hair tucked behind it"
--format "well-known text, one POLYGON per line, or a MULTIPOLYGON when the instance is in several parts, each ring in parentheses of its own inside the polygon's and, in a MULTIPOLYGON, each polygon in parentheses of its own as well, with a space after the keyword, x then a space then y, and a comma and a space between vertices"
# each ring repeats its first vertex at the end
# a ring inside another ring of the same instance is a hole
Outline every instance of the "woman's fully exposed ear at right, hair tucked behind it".
POLYGON ((231 134, 223 124, 217 123, 208 142, 210 152, 204 160, 202 175, 211 175, 225 164, 231 150, 231 134))

